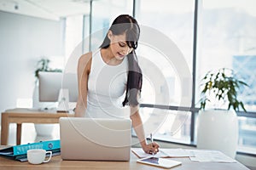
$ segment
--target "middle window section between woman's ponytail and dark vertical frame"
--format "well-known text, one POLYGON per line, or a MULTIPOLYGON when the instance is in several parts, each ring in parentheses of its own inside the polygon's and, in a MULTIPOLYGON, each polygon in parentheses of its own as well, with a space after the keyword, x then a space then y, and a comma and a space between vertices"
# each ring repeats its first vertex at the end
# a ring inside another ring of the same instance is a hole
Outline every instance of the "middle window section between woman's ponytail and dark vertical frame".
MULTIPOLYGON (((186 0, 136 2, 136 18, 142 28, 137 49, 139 64, 143 70, 142 103, 189 108, 192 99, 195 4, 186 0), (185 70, 185 76, 181 69, 185 70)), ((158 116, 154 119, 158 122, 152 122, 151 126, 144 127, 147 131, 147 127, 156 126, 156 139, 190 142, 190 112, 155 108, 143 108, 141 112, 143 120, 147 120, 148 116, 152 116, 150 119, 158 116), (177 124, 172 126, 173 120, 176 120, 177 124)))

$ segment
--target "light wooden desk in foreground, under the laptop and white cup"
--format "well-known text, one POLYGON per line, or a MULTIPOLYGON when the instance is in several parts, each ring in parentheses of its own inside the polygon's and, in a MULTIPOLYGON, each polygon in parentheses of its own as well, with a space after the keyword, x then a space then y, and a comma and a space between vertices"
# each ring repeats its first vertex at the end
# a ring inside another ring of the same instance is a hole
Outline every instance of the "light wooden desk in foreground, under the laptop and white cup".
MULTIPOLYGON (((25 162, 14 161, 12 159, 0 156, 0 169, 9 170, 22 170, 22 169, 40 169, 40 170, 56 170, 56 169, 134 169, 134 170, 154 170, 163 169, 160 167, 154 167, 137 163, 137 156, 131 153, 130 161, 63 161, 61 156, 53 156, 49 163, 40 165, 32 165, 25 162)), ((195 162, 190 161, 189 157, 184 158, 170 158, 172 160, 182 161, 182 165, 178 167, 172 167, 174 170, 248 170, 239 162, 235 163, 223 163, 223 162, 195 162)))

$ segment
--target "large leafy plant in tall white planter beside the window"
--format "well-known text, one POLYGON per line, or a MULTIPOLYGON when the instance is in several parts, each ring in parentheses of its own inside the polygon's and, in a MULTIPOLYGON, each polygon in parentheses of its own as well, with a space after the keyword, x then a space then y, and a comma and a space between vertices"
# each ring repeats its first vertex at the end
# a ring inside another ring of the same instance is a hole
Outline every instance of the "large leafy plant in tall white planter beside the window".
POLYGON ((198 115, 197 147, 220 150, 235 158, 238 141, 236 111, 246 111, 237 94, 247 83, 239 80, 234 71, 222 68, 207 72, 201 86, 203 88, 198 115))

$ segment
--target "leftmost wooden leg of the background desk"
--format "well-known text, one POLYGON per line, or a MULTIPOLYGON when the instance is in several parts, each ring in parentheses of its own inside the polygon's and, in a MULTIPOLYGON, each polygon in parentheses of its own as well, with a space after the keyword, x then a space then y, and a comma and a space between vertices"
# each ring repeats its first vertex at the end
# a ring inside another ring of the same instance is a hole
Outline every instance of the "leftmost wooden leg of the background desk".
POLYGON ((1 144, 8 145, 8 136, 9 136, 9 121, 8 114, 2 113, 2 122, 1 122, 1 144))

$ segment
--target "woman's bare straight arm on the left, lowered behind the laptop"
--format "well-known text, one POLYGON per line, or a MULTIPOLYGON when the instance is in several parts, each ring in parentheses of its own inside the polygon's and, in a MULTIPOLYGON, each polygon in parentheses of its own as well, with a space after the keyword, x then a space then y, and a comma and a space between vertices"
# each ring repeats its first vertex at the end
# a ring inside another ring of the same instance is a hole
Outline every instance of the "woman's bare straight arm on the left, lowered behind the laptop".
POLYGON ((75 108, 75 115, 77 117, 84 116, 87 108, 87 91, 88 91, 88 77, 90 74, 92 54, 87 53, 79 58, 78 65, 78 85, 79 85, 79 98, 75 108))

